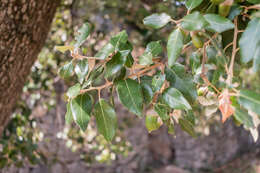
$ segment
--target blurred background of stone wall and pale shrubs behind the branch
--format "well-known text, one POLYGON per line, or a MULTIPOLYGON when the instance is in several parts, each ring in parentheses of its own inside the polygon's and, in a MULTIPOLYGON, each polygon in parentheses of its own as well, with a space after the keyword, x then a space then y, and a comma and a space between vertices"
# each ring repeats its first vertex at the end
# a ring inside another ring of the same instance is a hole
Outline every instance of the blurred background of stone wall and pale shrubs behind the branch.
MULTIPOLYGON (((0 172, 260 172, 260 142, 254 143, 249 132, 235 126, 232 120, 221 124, 218 112, 207 116, 207 112, 197 110, 197 139, 179 127, 175 135, 168 134, 165 127, 149 134, 144 120, 129 113, 118 101, 119 128, 111 143, 97 133, 93 120, 85 133, 76 125, 65 125, 64 93, 73 82, 59 78, 57 72, 70 56, 55 51, 54 46, 73 45, 74 34, 88 21, 92 34, 82 46, 84 54, 93 56, 112 35, 125 29, 137 57, 149 41, 161 40, 165 46, 173 29, 170 24, 162 30, 146 28, 143 18, 155 12, 179 19, 186 9, 183 2, 174 0, 62 1, 12 120, 0 139, 0 172)), ((246 79, 257 92, 259 76, 246 79)))

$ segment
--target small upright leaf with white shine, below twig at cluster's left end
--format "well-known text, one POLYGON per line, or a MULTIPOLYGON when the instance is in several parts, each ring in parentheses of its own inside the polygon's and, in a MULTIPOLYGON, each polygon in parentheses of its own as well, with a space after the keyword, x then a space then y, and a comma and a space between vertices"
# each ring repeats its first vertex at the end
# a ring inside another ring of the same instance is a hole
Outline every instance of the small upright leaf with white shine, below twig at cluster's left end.
POLYGON ((88 74, 88 59, 81 59, 75 66, 75 73, 78 76, 79 83, 83 83, 88 74))

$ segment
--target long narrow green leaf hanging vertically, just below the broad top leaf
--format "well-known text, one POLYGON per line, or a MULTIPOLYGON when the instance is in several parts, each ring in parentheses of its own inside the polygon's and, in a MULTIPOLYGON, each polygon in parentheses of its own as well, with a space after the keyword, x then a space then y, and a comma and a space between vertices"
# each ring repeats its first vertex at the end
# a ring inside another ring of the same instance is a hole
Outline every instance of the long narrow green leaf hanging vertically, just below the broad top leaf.
POLYGON ((179 58, 183 48, 183 35, 180 29, 174 30, 167 42, 168 65, 171 67, 179 58))

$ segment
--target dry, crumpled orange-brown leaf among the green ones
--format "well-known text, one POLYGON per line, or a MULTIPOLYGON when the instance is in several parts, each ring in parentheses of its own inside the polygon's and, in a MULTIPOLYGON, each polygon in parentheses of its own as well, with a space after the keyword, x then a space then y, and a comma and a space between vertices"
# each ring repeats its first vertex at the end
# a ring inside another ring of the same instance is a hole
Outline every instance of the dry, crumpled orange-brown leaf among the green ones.
POLYGON ((232 107, 228 89, 224 89, 218 99, 219 110, 222 113, 222 122, 224 123, 227 118, 229 118, 235 112, 235 109, 232 107))

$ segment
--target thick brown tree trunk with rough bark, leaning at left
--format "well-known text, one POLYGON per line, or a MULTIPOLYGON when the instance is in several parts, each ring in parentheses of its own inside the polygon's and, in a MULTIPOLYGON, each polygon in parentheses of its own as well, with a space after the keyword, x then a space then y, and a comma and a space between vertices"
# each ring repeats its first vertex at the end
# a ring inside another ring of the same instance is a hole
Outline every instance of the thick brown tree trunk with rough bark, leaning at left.
POLYGON ((0 135, 37 58, 59 0, 0 0, 0 135))

